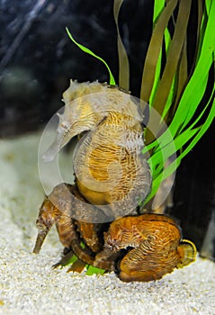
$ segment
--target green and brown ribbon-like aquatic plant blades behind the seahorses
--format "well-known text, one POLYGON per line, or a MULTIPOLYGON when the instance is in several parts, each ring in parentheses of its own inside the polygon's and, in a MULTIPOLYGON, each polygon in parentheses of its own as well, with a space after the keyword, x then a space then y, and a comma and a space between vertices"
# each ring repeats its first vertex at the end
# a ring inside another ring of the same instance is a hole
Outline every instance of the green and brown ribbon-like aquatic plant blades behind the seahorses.
MULTIPOLYGON (((117 84, 130 90, 130 63, 118 24, 122 3, 123 0, 114 0, 113 3, 118 35, 117 84)), ((160 184, 175 172, 214 120, 215 1, 197 0, 196 4, 196 52, 188 70, 187 28, 192 0, 155 0, 154 3, 153 31, 139 91, 139 98, 149 104, 149 111, 158 113, 153 121, 158 126, 158 136, 155 137, 148 127, 145 130, 144 152, 150 152, 148 163, 153 175, 146 203, 155 197, 160 184), (172 32, 169 30, 170 19, 174 25, 172 32), (208 90, 211 80, 213 83, 208 90)), ((112 71, 103 58, 77 43, 68 29, 67 34, 80 49, 104 63, 110 74, 110 85, 114 85, 112 71)), ((87 273, 94 272, 94 267, 89 266, 87 273)))

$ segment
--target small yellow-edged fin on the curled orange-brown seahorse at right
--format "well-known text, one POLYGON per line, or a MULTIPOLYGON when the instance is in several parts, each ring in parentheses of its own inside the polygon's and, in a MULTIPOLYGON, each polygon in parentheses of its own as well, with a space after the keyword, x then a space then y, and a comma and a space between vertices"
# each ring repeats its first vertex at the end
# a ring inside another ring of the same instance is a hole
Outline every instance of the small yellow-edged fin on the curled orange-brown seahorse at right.
POLYGON ((181 262, 177 264, 177 268, 183 268, 193 263, 196 259, 197 250, 192 241, 183 239, 179 247, 177 247, 181 262))

